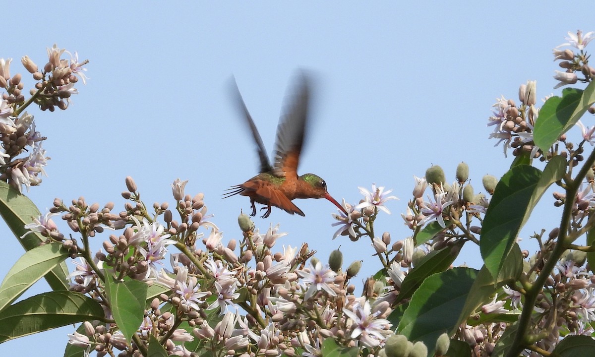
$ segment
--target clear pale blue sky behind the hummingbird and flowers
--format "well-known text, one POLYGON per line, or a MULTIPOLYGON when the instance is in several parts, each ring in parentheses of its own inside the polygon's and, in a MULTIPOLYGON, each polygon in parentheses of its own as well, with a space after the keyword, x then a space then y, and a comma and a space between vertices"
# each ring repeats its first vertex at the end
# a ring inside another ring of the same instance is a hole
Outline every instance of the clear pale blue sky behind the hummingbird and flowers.
MULTIPOLYGON (((205 193, 224 240, 239 239, 237 215, 249 209, 249 200, 222 200, 221 193, 256 174, 258 164, 229 80, 236 77, 272 151, 289 81, 296 68, 307 68, 317 88, 299 173, 323 177, 338 201, 358 202, 358 186, 394 189, 400 201, 387 203, 393 214, 381 214, 376 230, 403 239, 410 232, 400 213, 413 176, 439 164, 452 181, 456 165, 465 161, 477 192, 484 174, 505 173, 512 157, 505 159, 502 148, 487 140, 494 99, 503 94, 516 100, 527 80, 537 80, 538 98, 559 93, 553 90, 559 68, 552 48, 565 42, 568 31, 595 30, 584 11, 589 2, 568 14, 569 8, 553 2, 154 4, 5 5, 5 13, 18 20, 5 27, 0 46, 0 57, 14 58, 11 73, 21 71, 23 55, 45 63, 45 48, 53 43, 90 60, 90 79, 67 111, 29 111, 48 137, 43 146, 52 158, 49 177, 28 193, 40 210, 55 197, 68 202, 81 195, 121 208, 126 176, 136 180, 149 205, 173 203, 170 184, 180 177, 189 180, 187 193, 205 193)), ((24 77, 28 89, 33 82, 24 77)), ((346 265, 364 259, 361 279, 378 269, 369 241, 331 240, 330 202, 297 205, 306 217, 274 209, 255 223, 261 231, 280 223, 289 232, 280 245, 307 242, 322 261, 340 245, 346 265)), ((527 234, 555 225, 559 211, 547 203, 543 210, 527 234)), ((0 231, 4 276, 23 251, 6 227, 0 231)), ((466 248, 463 262, 479 268, 478 250, 466 248)), ((40 282, 30 295, 46 289, 40 282)), ((61 355, 72 330, 4 343, 0 355, 61 355)))

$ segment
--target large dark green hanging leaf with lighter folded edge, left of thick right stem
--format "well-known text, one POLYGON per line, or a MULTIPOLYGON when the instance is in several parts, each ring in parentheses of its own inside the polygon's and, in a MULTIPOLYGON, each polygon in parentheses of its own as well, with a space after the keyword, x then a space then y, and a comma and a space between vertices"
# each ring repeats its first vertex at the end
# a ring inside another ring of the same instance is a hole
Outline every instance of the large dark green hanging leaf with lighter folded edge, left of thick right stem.
POLYGON ((562 179, 565 172, 566 159, 554 156, 543 173, 520 165, 500 179, 484 218, 480 240, 481 257, 494 277, 547 187, 562 179))

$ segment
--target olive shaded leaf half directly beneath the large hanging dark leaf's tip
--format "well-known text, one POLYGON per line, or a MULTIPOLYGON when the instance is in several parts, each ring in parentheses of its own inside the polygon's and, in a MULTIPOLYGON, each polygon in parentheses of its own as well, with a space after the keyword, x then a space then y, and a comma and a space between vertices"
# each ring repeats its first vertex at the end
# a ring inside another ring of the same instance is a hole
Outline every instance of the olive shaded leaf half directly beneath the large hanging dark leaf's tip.
POLYGON ((496 293, 497 289, 516 281, 522 273, 522 265, 521 248, 516 243, 513 245, 508 256, 506 256, 504 266, 496 280, 494 280, 490 271, 484 265, 477 274, 477 278, 475 278, 471 291, 467 296, 458 324, 462 324, 478 307, 487 303, 490 297, 496 293))

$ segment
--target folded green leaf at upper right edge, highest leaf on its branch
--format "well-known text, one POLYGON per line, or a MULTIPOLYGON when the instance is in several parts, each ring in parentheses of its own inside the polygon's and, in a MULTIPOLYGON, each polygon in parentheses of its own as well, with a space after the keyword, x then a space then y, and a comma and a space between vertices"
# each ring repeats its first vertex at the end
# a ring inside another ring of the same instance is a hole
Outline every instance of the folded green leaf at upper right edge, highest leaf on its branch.
POLYGON ((595 84, 589 83, 585 90, 566 88, 562 98, 553 96, 543 104, 533 130, 533 141, 547 151, 568 131, 595 103, 595 84))

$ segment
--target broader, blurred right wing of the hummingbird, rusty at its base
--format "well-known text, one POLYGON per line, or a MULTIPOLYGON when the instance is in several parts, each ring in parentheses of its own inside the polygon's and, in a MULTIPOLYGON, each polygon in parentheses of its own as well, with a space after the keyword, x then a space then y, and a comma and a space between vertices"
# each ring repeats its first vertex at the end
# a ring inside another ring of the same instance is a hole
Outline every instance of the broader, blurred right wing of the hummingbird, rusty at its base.
POLYGON ((297 165, 308 124, 310 92, 308 77, 300 73, 295 93, 286 99, 281 109, 273 163, 275 176, 297 178, 297 165))

